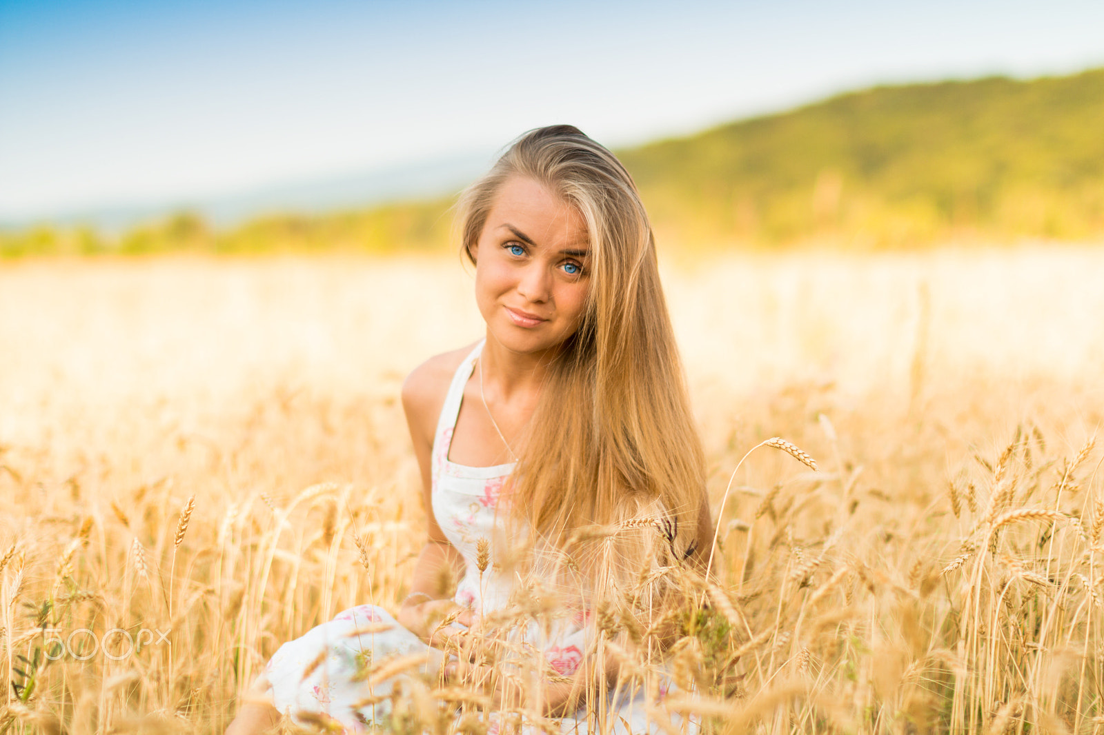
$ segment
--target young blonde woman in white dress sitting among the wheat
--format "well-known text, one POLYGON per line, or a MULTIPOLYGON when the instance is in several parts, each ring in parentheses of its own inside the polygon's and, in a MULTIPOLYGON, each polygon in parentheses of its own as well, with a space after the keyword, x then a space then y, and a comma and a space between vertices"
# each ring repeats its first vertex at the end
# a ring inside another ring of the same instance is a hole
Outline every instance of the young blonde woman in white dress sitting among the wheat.
POLYGON ((711 525, 644 206, 613 153, 552 126, 514 141, 459 212, 487 332, 403 386, 429 511, 411 593, 397 619, 364 605, 280 647, 232 734, 280 713, 385 724, 386 665, 412 661, 565 731, 656 732, 662 692, 617 685, 595 642, 657 614, 670 595, 652 578, 708 554, 711 525))

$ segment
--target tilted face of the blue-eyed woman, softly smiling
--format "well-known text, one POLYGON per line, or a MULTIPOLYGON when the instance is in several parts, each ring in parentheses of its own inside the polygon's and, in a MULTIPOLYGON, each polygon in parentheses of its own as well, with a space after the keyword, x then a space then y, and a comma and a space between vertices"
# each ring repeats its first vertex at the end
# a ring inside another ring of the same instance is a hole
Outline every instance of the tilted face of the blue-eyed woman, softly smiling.
POLYGON ((479 312, 503 347, 540 352, 578 329, 587 239, 583 216, 543 184, 527 177, 502 184, 471 256, 479 312))

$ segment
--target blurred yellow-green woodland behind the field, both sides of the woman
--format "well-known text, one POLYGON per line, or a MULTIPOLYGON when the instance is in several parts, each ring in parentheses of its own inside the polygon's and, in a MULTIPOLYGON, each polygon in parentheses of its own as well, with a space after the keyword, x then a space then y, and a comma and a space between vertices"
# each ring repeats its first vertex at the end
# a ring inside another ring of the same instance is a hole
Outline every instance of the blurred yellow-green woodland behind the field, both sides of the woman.
MULTIPOLYGON (((1104 68, 1027 82, 885 86, 617 151, 664 239, 681 246, 920 247, 1104 236, 1104 68)), ((426 252, 450 199, 261 217, 194 214, 107 238, 0 233, 0 255, 426 252)))

